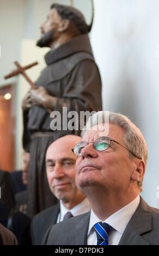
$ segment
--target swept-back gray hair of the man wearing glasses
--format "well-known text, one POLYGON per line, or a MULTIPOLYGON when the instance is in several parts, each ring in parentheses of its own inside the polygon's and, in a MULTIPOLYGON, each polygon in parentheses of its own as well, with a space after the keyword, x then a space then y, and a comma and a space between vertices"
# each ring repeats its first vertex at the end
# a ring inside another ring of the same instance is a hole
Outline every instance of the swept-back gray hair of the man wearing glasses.
MULTIPOLYGON (((105 124, 107 114, 108 112, 106 111, 100 111, 92 115, 90 117, 91 119, 90 127, 93 127, 94 125, 105 124), (101 118, 101 114, 102 114, 102 118, 101 118), (94 118, 95 115, 96 115, 96 118, 94 118), (100 115, 100 118, 98 118, 99 115, 100 115)), ((148 150, 147 150, 146 142, 142 135, 142 132, 138 129, 138 127, 134 125, 132 121, 129 118, 127 118, 125 115, 122 115, 119 113, 109 112, 108 120, 109 120, 109 124, 117 125, 121 129, 123 129, 124 143, 126 148, 132 151, 134 155, 138 156, 139 159, 142 158, 146 164, 148 160, 148 150)), ((82 131, 81 133, 82 136, 83 136, 83 133, 84 131, 82 131)), ((134 156, 130 153, 130 157, 132 158, 134 156)))

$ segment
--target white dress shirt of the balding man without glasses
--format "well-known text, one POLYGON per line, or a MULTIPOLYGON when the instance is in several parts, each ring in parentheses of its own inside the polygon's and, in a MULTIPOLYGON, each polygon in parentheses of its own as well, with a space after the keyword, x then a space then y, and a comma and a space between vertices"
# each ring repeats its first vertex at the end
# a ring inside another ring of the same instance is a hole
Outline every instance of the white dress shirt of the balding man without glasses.
POLYGON ((80 204, 77 204, 74 208, 70 210, 66 209, 62 201, 60 200, 60 213, 57 218, 57 223, 59 223, 60 221, 63 221, 64 216, 68 211, 71 212, 73 216, 85 214, 85 212, 90 211, 90 205, 89 205, 88 199, 85 198, 80 204))

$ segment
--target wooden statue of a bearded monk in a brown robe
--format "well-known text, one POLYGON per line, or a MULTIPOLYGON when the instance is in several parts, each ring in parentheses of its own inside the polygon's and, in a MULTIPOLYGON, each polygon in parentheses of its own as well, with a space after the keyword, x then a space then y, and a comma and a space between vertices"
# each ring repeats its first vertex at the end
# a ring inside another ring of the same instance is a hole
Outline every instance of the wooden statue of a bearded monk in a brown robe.
POLYGON ((80 130, 52 131, 50 113, 61 113, 63 107, 77 113, 102 108, 101 78, 88 37, 91 25, 87 25, 76 8, 52 4, 47 20, 40 27, 42 36, 37 46, 50 47, 51 51, 45 56, 47 66, 35 82, 36 88, 30 89, 22 102, 23 146, 30 152, 30 217, 56 203, 46 179, 48 146, 64 135, 80 135, 80 130))

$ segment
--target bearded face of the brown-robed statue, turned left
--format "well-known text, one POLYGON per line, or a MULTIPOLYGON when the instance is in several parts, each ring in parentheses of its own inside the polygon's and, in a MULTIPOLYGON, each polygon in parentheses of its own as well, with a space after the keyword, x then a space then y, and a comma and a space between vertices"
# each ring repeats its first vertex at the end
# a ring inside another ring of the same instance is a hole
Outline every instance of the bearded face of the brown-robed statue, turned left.
POLYGON ((62 22, 56 9, 51 9, 46 21, 41 25, 41 38, 36 43, 39 47, 51 47, 52 43, 59 38, 58 28, 62 22))

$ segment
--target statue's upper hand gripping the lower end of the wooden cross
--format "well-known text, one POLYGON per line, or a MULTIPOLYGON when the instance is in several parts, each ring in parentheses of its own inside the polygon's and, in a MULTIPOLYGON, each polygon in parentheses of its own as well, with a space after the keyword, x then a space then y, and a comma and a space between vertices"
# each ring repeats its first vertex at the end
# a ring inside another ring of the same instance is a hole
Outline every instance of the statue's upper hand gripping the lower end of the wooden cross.
POLYGON ((49 95, 44 87, 30 90, 32 103, 38 106, 45 106, 47 96, 49 95))

